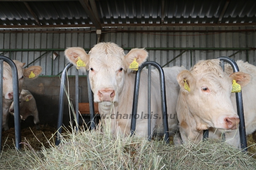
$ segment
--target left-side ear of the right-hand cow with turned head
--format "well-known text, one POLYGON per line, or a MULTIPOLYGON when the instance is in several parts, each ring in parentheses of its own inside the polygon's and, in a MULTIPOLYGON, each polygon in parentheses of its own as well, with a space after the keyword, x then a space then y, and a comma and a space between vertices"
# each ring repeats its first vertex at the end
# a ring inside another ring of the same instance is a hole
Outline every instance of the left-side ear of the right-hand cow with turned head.
POLYGON ((190 73, 190 71, 188 70, 182 70, 178 76, 177 76, 177 81, 180 85, 180 89, 181 90, 185 90, 185 81, 186 80, 186 83, 188 84, 188 87, 191 89, 191 84, 193 83, 193 76, 192 74, 190 73))

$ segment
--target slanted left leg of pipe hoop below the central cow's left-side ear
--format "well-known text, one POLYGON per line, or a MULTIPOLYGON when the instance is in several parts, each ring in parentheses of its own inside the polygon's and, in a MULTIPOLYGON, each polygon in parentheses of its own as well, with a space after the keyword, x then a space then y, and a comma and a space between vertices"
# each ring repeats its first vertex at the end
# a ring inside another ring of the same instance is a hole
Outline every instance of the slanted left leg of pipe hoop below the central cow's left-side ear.
POLYGON ((67 80, 67 71, 73 64, 68 63, 66 67, 62 71, 61 75, 61 84, 60 84, 60 100, 59 100, 59 113, 58 113, 58 123, 57 123, 57 136, 55 140, 55 145, 58 146, 60 144, 60 134, 62 130, 62 120, 63 120, 63 110, 64 110, 64 96, 65 96, 65 83, 67 80))

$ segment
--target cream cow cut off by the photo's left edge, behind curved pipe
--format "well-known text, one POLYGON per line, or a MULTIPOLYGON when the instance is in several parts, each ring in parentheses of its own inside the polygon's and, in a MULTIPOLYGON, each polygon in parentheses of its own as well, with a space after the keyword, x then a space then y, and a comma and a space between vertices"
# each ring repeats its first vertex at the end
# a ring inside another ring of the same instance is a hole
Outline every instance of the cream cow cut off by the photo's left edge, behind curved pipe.
MULTIPOLYGON (((31 66, 27 69, 23 68, 25 63, 21 63, 17 60, 13 60, 18 70, 18 78, 19 78, 19 92, 22 90, 23 78, 29 77, 31 71, 35 74, 35 79, 42 72, 42 68, 40 66, 31 66)), ((13 101, 13 90, 12 90, 12 69, 9 64, 4 62, 4 71, 3 71, 3 128, 4 130, 9 130, 8 127, 8 117, 9 117, 9 108, 13 101)), ((21 96, 20 96, 21 97, 21 96)))

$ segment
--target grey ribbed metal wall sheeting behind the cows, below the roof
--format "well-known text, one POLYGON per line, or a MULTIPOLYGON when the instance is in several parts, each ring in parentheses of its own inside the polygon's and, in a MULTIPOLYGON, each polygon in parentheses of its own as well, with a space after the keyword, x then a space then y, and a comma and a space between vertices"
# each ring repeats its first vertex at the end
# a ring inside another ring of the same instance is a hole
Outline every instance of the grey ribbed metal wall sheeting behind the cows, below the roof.
MULTIPOLYGON (((255 26, 244 27, 117 27, 103 28, 103 42, 115 42, 122 48, 256 48, 256 35, 253 32, 116 32, 116 31, 141 31, 141 30, 245 30, 255 29, 255 26)), ((97 38, 94 28, 79 29, 17 29, 19 33, 11 33, 12 30, 0 29, 0 54, 4 49, 38 49, 55 48, 65 49, 67 47, 92 48, 96 44, 97 38), (4 31, 4 32, 3 32, 4 31), (26 31, 26 33, 22 33, 26 31), (31 33, 28 33, 31 31, 31 33), (83 31, 82 33, 33 33, 33 31, 83 31)), ((124 50, 125 54, 128 50, 124 50)), ((148 50, 148 60, 156 61, 164 65, 179 55, 184 50, 148 50)), ((169 63, 167 66, 181 66, 190 69, 198 60, 213 59, 219 56, 230 56, 239 50, 187 50, 180 57, 169 63)), ((5 56, 25 63, 33 62, 37 57, 46 51, 12 51, 5 52, 5 56)), ((64 68, 67 61, 64 58, 64 51, 55 51, 59 55, 53 61, 52 51, 42 55, 40 59, 32 65, 43 67, 42 75, 58 75, 64 68)), ((86 51, 88 52, 88 51, 86 51)), ((246 61, 255 65, 255 50, 242 50, 232 56, 236 60, 246 61), (247 54, 248 53, 248 54, 247 54)), ((80 75, 84 74, 82 72, 80 75)), ((75 75, 75 68, 68 71, 68 75, 75 75)))

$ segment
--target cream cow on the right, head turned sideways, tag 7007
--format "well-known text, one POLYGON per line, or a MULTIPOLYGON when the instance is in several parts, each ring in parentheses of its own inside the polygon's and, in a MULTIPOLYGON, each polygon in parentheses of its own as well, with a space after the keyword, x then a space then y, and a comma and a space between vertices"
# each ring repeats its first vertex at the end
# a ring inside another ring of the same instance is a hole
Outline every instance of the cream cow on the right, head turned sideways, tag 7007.
POLYGON ((242 87, 246 134, 256 129, 256 107, 253 104, 256 67, 237 61, 240 72, 233 73, 232 67, 226 64, 224 73, 219 63, 218 59, 202 60, 190 71, 183 70, 177 76, 181 88, 176 111, 184 143, 188 138, 198 143, 202 140, 203 130, 210 128, 209 137, 220 137, 224 131, 226 141, 240 147, 236 94, 231 93, 234 79, 242 87), (184 88, 184 80, 190 92, 184 88))

